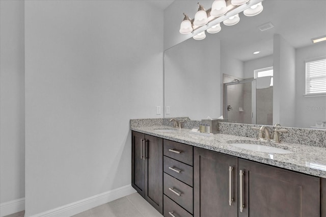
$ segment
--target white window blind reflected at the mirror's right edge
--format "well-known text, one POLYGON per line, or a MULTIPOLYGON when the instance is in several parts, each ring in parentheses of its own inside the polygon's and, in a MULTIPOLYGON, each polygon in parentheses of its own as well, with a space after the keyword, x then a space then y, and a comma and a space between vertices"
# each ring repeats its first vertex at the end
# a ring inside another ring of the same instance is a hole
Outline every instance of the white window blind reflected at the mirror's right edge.
POLYGON ((326 93, 326 57, 306 61, 306 94, 326 93))

